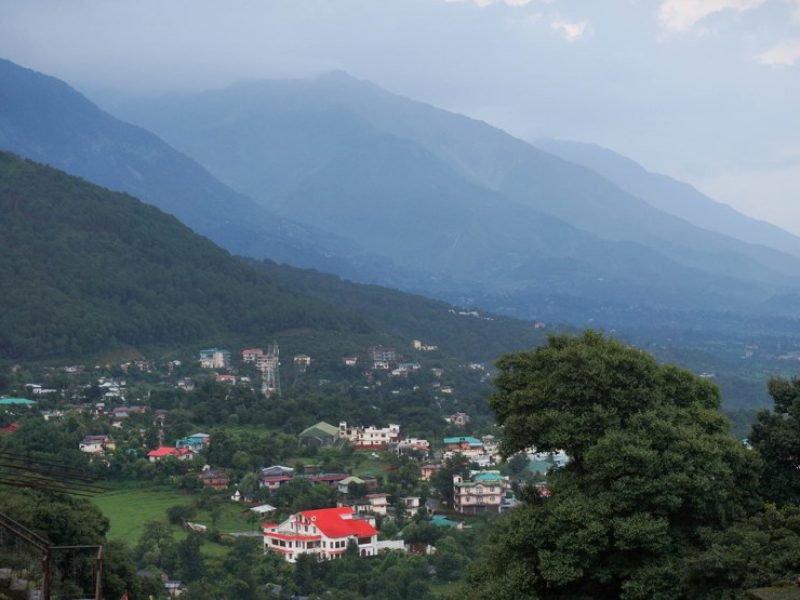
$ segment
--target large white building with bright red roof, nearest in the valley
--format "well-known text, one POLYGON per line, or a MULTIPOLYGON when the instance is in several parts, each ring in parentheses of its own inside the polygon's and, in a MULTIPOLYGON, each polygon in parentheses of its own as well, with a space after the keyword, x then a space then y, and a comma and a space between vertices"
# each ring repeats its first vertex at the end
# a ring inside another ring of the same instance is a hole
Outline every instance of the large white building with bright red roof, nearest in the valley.
POLYGON ((371 517, 361 517, 350 506, 306 510, 281 524, 265 523, 264 551, 279 552, 295 562, 300 554, 316 554, 330 560, 338 558, 353 541, 360 556, 378 553, 378 530, 371 517))

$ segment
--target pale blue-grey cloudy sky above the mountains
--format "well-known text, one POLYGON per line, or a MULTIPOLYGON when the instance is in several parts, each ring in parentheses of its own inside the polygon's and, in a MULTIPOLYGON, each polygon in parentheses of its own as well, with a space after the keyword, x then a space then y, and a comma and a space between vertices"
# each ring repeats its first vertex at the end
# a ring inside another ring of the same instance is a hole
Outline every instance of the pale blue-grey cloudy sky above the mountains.
POLYGON ((340 69, 800 234, 800 0, 0 0, 0 56, 96 99, 340 69))

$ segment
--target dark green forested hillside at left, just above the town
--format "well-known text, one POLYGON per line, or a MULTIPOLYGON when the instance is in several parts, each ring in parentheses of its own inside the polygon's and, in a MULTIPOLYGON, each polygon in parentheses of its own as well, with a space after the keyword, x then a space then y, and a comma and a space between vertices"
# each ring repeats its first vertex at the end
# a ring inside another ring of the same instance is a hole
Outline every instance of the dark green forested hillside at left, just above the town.
POLYGON ((254 267, 128 195, 0 153, 0 359, 77 358, 253 343, 286 332, 363 343, 427 336, 489 360, 542 334, 507 318, 465 318, 442 302, 306 271, 254 267), (330 287, 329 286, 329 287, 330 287), (373 305, 372 309, 367 309, 373 305))

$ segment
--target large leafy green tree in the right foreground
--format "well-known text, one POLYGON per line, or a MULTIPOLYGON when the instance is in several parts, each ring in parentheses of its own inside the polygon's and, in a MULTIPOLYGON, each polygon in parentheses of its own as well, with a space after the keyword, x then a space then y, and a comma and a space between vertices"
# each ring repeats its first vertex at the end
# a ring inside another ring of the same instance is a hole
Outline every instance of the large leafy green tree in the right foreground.
POLYGON ((600 333, 498 361, 502 451, 564 450, 552 495, 495 530, 475 597, 681 598, 702 533, 759 507, 758 457, 728 433, 708 381, 600 333))

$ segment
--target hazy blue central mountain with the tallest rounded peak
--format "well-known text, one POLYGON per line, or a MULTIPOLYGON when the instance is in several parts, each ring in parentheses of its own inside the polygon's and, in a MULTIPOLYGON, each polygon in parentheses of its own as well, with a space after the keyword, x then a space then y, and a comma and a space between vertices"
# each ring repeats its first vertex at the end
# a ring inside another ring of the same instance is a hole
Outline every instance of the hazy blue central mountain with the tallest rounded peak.
POLYGON ((543 293, 747 311, 800 287, 789 254, 696 227, 486 123, 342 73, 115 110, 283 216, 428 275, 407 288, 478 292, 492 309, 532 316, 543 293))

